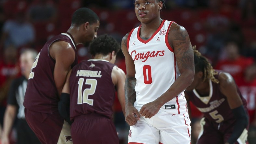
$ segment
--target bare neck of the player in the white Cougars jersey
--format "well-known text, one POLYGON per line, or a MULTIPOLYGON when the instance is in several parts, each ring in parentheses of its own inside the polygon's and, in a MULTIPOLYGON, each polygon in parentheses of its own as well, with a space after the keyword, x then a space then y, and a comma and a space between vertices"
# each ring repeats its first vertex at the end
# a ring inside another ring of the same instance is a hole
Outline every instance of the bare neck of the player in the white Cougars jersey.
POLYGON ((155 18, 152 21, 148 23, 141 23, 141 28, 140 28, 140 36, 141 37, 151 37, 153 33, 159 28, 159 26, 162 23, 162 19, 155 18))

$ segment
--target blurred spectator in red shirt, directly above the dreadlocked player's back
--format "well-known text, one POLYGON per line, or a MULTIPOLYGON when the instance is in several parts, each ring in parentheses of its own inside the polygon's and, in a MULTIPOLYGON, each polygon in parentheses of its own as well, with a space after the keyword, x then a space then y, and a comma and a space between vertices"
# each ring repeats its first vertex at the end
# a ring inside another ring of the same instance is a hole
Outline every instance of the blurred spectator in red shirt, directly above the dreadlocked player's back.
POLYGON ((253 63, 253 58, 241 56, 237 43, 232 41, 226 42, 224 53, 224 60, 220 60, 215 69, 230 73, 237 81, 239 77, 243 77, 244 69, 253 63))

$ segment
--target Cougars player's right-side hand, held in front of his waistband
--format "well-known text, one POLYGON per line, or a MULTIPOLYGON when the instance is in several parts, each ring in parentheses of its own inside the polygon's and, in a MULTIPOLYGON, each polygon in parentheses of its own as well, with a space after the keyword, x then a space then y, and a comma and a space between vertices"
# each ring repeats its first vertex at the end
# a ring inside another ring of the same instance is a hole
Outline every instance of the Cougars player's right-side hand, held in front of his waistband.
POLYGON ((141 116, 145 116, 145 118, 151 118, 158 113, 160 108, 161 106, 157 102, 148 102, 141 107, 140 114, 141 116))

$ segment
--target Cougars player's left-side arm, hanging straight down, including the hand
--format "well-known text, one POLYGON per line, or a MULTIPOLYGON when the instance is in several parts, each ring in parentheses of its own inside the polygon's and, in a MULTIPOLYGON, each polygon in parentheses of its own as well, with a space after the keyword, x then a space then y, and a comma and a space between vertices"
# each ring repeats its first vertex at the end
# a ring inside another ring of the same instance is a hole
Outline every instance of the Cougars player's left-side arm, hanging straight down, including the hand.
POLYGON ((134 90, 136 85, 135 78, 135 65, 134 60, 128 52, 127 48, 127 38, 129 33, 127 33, 123 39, 121 44, 121 49, 123 55, 125 56, 125 65, 126 65, 126 79, 124 85, 124 93, 125 93, 125 121, 130 126, 133 126, 137 119, 140 120, 140 114, 136 108, 134 108, 133 104, 136 100, 136 92, 134 90))

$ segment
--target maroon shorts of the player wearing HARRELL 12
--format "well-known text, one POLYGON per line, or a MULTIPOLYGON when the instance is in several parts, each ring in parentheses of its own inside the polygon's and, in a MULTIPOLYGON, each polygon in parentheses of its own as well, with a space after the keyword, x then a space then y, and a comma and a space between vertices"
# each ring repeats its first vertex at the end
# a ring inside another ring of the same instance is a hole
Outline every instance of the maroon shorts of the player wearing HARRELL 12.
POLYGON ((85 114, 74 118, 71 125, 73 144, 119 144, 114 123, 98 114, 85 114))

